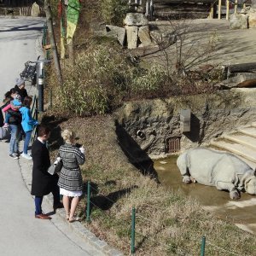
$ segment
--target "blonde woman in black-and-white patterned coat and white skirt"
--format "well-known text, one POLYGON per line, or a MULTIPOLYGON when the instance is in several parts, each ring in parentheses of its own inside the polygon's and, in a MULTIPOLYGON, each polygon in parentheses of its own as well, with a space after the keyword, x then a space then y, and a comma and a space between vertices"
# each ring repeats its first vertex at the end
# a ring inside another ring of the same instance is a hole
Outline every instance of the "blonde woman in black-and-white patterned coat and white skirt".
POLYGON ((69 222, 77 221, 74 213, 79 204, 79 197, 83 194, 83 179, 79 165, 84 164, 84 147, 76 147, 75 133, 64 130, 61 132, 65 144, 61 146, 59 155, 63 166, 61 168, 58 185, 63 195, 63 205, 69 222))

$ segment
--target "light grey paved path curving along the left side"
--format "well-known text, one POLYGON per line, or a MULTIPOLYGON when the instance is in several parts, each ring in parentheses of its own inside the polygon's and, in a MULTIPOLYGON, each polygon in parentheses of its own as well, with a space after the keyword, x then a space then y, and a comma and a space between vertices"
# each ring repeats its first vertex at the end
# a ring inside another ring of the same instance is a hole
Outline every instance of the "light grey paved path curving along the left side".
MULTIPOLYGON (((19 76, 25 61, 38 56, 42 19, 0 18, 0 96, 19 76)), ((103 255, 77 236, 57 214, 53 219, 34 218, 34 204, 20 168, 26 160, 8 156, 9 143, 0 142, 0 252, 1 255, 103 255)), ((27 165, 31 168, 31 165, 27 165)), ((44 211, 52 208, 44 201, 44 211)))

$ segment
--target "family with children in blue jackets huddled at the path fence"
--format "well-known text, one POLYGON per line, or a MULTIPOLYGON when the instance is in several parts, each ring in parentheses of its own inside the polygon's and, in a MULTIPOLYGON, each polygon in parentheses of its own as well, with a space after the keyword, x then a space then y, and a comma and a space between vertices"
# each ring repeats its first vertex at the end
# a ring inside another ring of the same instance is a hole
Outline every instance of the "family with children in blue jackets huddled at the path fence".
MULTIPOLYGON (((25 80, 17 79, 15 87, 9 90, 5 95, 1 109, 5 113, 3 128, 9 129, 9 156, 18 159, 22 156, 26 160, 32 160, 28 154, 28 146, 32 136, 34 125, 38 125, 36 119, 32 119, 31 105, 32 97, 27 95, 25 80), (23 151, 19 151, 20 138, 24 136, 23 151)), ((3 114, 2 113, 2 114, 3 114)))

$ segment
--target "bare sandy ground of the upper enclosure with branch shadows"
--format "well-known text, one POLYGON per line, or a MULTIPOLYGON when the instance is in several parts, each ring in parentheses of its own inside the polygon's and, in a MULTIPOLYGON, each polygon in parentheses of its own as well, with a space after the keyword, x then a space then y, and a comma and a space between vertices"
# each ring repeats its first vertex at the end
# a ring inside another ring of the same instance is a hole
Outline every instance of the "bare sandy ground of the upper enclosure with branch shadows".
MULTIPOLYGON (((183 58, 189 60, 199 57, 198 59, 204 61, 198 61, 198 64, 207 63, 219 66, 254 62, 256 60, 256 28, 230 30, 229 21, 224 19, 152 21, 150 24, 151 26, 157 26, 165 36, 177 28, 174 22, 183 22, 183 26, 185 26, 183 58), (214 49, 210 49, 210 44, 214 44, 214 49), (211 50, 212 52, 210 53, 211 50)), ((166 50, 171 61, 177 55, 175 45, 172 44, 166 50)), ((157 47, 138 50, 140 55, 146 55, 144 59, 148 61, 163 61, 164 56, 157 51, 157 47)))

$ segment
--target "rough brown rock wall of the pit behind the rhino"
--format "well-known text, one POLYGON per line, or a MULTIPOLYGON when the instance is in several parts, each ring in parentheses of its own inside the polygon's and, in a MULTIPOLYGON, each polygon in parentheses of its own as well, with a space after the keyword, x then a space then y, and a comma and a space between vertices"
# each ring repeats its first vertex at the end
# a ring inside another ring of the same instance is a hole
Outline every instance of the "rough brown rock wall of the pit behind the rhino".
POLYGON ((256 89, 220 90, 212 95, 126 102, 114 114, 119 143, 134 162, 165 157, 170 137, 181 150, 209 143, 225 131, 256 120, 256 89), (181 109, 191 110, 190 131, 182 133, 181 109))

